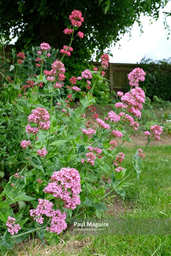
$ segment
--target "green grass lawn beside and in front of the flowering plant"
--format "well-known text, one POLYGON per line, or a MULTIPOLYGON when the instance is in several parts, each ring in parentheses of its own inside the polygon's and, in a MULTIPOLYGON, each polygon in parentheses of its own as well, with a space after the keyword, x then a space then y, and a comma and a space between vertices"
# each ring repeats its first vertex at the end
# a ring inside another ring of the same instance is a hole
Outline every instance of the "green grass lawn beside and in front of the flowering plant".
MULTIPOLYGON (((132 155, 136 148, 123 147, 126 155, 125 168, 131 168, 132 155)), ((127 182, 125 202, 132 205, 126 217, 169 218, 170 217, 170 170, 171 146, 149 146, 144 159, 144 171, 139 180, 133 174, 127 182)), ((112 197, 108 197, 112 200, 112 197)), ((170 237, 165 235, 100 235, 73 237, 67 231, 60 244, 41 245, 40 241, 17 245, 7 255, 171 255, 170 237), (66 245, 65 243, 66 242, 66 245), (63 248, 62 248, 63 247, 63 248)))

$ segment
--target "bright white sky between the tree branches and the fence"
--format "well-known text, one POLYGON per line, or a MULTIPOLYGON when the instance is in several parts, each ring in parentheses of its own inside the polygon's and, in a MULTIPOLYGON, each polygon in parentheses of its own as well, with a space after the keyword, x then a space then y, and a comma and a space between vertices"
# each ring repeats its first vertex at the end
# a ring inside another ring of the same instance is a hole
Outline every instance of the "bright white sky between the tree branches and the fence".
MULTIPOLYGON (((117 45, 111 46, 113 57, 110 62, 114 63, 136 63, 143 57, 152 58, 152 60, 162 60, 171 57, 171 35, 167 40, 167 30, 163 25, 163 11, 171 11, 171 1, 167 3, 164 9, 161 8, 157 21, 149 25, 150 17, 141 15, 144 33, 140 35, 140 28, 134 23, 131 31, 131 38, 128 33, 123 35, 117 45), (120 48, 119 48, 120 44, 120 48)), ((171 17, 167 18, 167 23, 171 30, 171 17)))

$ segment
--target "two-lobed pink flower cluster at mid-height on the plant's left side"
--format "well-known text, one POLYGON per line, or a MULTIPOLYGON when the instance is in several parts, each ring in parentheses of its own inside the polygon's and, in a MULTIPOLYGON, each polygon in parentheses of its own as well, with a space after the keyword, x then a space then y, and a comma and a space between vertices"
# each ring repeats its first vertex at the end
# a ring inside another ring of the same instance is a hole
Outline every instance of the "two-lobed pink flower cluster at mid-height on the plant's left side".
POLYGON ((45 108, 36 108, 32 110, 32 114, 28 116, 28 121, 36 123, 38 127, 26 126, 26 133, 37 134, 40 130, 48 130, 50 127, 50 116, 45 108))

